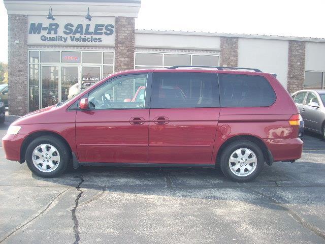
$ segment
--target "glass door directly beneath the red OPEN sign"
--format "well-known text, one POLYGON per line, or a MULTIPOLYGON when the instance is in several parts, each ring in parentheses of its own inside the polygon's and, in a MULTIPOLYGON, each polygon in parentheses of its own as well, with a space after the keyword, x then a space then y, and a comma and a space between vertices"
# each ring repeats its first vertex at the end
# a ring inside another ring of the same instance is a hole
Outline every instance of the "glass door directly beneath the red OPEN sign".
POLYGON ((79 75, 79 65, 61 67, 61 101, 66 101, 78 93, 79 75))

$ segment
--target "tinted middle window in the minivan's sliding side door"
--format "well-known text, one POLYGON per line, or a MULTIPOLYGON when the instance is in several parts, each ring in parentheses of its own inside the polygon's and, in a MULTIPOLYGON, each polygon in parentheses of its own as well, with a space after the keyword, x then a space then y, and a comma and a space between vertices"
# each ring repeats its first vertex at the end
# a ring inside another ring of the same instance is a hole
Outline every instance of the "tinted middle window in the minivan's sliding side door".
POLYGON ((216 73, 154 73, 151 108, 219 107, 216 73))

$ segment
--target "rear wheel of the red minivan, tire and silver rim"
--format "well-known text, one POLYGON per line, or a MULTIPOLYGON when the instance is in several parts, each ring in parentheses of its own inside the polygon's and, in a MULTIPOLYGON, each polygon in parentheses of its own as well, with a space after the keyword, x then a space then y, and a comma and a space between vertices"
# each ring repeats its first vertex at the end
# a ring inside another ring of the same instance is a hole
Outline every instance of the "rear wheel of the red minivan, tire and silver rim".
POLYGON ((224 148, 220 157, 221 171, 236 182, 253 180, 261 173, 263 166, 261 148, 248 140, 232 142, 224 148))

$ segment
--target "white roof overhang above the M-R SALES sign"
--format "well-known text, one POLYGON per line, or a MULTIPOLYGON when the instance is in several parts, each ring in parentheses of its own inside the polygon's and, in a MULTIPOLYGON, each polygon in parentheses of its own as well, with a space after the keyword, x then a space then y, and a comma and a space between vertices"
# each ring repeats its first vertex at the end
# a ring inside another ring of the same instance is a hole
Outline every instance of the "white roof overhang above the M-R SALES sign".
POLYGON ((83 16, 89 7, 91 16, 138 17, 141 1, 136 0, 4 0, 8 14, 83 16))

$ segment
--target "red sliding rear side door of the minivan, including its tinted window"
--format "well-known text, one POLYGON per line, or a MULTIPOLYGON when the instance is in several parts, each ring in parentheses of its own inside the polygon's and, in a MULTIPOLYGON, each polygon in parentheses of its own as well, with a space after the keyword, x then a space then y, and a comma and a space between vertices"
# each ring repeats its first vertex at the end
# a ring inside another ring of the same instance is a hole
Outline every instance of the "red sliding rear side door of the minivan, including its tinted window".
POLYGON ((219 112, 216 73, 154 73, 148 162, 211 164, 219 112))

